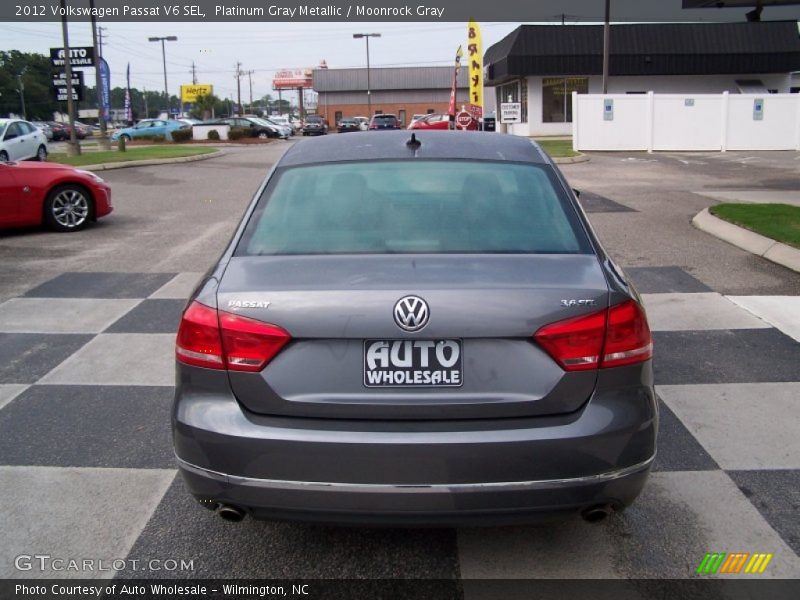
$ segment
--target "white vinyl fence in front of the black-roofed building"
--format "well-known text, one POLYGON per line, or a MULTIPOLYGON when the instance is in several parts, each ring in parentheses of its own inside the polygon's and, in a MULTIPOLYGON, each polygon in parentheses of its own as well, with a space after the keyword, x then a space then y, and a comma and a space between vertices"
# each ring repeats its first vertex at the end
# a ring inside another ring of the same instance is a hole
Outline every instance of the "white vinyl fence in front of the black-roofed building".
POLYGON ((800 150, 800 94, 572 94, 575 150, 800 150))

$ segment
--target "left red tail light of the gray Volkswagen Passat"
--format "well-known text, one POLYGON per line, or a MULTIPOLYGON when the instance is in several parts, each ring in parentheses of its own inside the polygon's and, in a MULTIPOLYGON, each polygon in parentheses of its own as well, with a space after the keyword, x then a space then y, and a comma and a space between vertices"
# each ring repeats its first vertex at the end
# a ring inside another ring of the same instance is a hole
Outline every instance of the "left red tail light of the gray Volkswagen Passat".
POLYGON ((258 372, 291 340, 277 325, 193 302, 178 328, 179 362, 206 369, 258 372))

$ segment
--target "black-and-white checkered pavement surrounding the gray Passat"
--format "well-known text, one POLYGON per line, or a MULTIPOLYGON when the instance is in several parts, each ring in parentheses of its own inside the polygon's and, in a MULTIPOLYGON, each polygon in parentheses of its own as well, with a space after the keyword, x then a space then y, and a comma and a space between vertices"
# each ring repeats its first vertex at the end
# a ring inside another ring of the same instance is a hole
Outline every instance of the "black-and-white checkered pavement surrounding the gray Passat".
MULTIPOLYGON (((176 477, 173 339, 199 273, 64 273, 0 304, 0 577, 19 554, 193 560, 127 577, 691 577, 706 552, 800 576, 800 298, 628 269, 656 344, 659 453, 598 525, 385 530, 224 522, 176 477)), ((113 571, 59 576, 111 577, 113 571)))

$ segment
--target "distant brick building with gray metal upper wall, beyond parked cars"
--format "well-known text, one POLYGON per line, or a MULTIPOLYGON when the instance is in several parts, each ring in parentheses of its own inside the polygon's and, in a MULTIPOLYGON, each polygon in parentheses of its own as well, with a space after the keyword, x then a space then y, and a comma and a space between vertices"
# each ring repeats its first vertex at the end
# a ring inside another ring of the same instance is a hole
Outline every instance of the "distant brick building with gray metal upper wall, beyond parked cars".
MULTIPOLYGON (((369 117, 366 69, 315 69, 317 112, 333 126, 342 117, 369 117)), ((371 68, 372 113, 394 114, 404 125, 415 114, 446 113, 453 67, 371 68)), ((456 107, 469 96, 466 68, 458 74, 456 107)))

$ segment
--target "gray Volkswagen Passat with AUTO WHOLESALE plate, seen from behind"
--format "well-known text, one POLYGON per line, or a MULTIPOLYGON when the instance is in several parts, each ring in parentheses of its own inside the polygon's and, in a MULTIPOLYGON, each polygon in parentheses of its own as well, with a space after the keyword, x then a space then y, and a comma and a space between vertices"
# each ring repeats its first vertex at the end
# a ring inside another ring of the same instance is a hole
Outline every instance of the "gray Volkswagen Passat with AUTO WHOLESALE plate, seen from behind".
POLYGON ((295 144, 176 356, 180 470, 229 520, 598 520, 656 449, 640 299, 526 138, 295 144))

